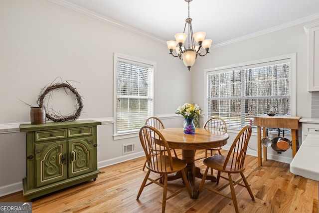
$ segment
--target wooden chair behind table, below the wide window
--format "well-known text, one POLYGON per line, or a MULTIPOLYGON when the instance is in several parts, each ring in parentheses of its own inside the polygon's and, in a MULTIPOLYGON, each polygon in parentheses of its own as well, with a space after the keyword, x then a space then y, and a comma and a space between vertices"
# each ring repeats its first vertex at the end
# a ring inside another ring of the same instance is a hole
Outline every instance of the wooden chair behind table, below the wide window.
MULTIPOLYGON (((211 117, 206 121, 206 123, 203 126, 203 129, 208 129, 211 131, 216 130, 216 131, 221 131, 221 132, 226 133, 227 132, 227 125, 222 118, 211 117)), ((220 152, 221 149, 222 149, 221 147, 206 149, 205 150, 205 158, 208 157, 207 152, 210 153, 210 156, 212 156, 215 151, 218 151, 219 155, 221 155, 221 152, 220 152)))

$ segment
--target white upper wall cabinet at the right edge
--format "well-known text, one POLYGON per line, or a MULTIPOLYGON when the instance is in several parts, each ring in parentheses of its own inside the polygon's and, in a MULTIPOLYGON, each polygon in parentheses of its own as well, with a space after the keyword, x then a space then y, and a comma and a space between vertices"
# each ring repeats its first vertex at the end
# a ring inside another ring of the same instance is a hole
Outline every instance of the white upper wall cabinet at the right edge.
POLYGON ((305 26, 308 32, 308 91, 319 91, 319 22, 305 26))

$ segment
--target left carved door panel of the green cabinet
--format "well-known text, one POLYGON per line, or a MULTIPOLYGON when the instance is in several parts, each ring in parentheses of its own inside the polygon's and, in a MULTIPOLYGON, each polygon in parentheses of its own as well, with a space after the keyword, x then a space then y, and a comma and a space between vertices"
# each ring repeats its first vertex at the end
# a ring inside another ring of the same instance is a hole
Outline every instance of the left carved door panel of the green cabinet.
POLYGON ((67 179, 66 140, 35 144, 36 186, 67 179))

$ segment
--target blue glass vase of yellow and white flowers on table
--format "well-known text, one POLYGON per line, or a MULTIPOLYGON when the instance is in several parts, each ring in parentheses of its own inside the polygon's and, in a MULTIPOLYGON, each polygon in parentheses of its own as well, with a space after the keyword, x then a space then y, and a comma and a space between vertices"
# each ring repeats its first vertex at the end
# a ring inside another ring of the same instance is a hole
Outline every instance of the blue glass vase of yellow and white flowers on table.
POLYGON ((197 104, 185 103, 178 107, 176 114, 182 115, 185 119, 183 123, 184 133, 194 134, 196 129, 194 119, 201 115, 200 107, 197 104))

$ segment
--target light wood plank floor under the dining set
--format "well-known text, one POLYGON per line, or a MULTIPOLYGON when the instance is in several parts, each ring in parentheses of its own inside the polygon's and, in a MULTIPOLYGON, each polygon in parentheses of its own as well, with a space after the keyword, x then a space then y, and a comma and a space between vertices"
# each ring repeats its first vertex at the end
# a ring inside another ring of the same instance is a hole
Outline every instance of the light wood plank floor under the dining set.
MULTIPOLYGON (((223 151, 225 154, 226 151, 223 151)), ((180 152, 178 152, 180 156, 180 152)), ((202 151, 198 157, 203 157, 202 151)), ((137 193, 146 174, 142 171, 145 158, 100 169, 97 180, 43 196, 32 203, 32 213, 158 213, 161 211, 162 188, 152 184, 144 189, 139 201, 137 193)), ((201 160, 196 165, 204 170, 201 160)), ((246 190, 236 186, 241 213, 318 213, 318 182, 293 175, 289 164, 267 161, 258 169, 257 157, 246 156, 245 175, 255 196, 250 199, 246 190)), ((196 180, 196 185, 200 179, 196 180)), ((206 186, 218 188, 206 181, 206 186)), ((180 180, 170 182, 180 187, 180 180)), ((230 191, 226 188, 223 192, 230 191)), ((0 202, 30 202, 22 192, 0 198, 0 202)), ((204 189, 197 200, 187 192, 166 202, 167 213, 233 213, 231 200, 204 189)))

